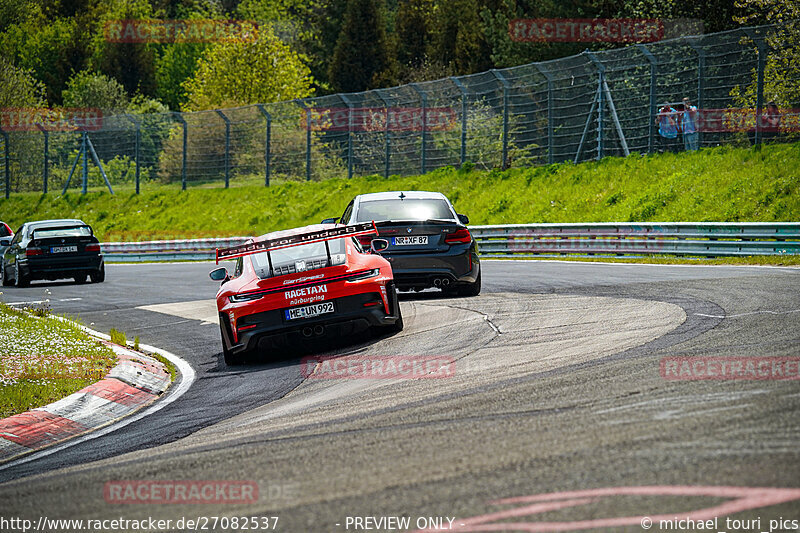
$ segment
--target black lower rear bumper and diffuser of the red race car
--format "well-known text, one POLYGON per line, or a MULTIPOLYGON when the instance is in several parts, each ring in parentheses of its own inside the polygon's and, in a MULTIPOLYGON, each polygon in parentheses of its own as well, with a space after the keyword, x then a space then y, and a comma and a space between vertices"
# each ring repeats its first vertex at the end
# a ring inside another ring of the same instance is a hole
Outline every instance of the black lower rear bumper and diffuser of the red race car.
POLYGON ((313 339, 342 337, 360 333, 374 326, 390 326, 398 320, 399 303, 394 290, 388 290, 387 315, 379 293, 363 293, 331 300, 335 311, 311 318, 287 320, 284 309, 244 315, 236 321, 236 342, 231 323, 220 313, 223 342, 231 353, 266 352, 290 348, 313 339))

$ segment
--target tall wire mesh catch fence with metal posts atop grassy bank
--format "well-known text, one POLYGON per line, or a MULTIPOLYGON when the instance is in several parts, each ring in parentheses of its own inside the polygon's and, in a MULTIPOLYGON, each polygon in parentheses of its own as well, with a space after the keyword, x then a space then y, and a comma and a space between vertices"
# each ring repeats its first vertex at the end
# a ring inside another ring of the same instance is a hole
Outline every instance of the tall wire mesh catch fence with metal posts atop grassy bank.
MULTIPOLYGON (((361 93, 104 116, 82 131, 6 128, 0 132, 0 187, 6 196, 139 192, 163 184, 408 175, 467 162, 486 169, 581 162, 660 150, 659 106, 683 97, 705 122, 701 147, 793 140, 800 102, 777 102, 779 130, 760 120, 774 98, 765 66, 778 52, 765 38, 776 28, 587 51, 361 93)), ((800 79, 800 65, 786 63, 784 77, 800 79)), ((682 149, 678 145, 680 137, 673 148, 682 149)))

